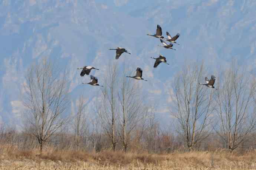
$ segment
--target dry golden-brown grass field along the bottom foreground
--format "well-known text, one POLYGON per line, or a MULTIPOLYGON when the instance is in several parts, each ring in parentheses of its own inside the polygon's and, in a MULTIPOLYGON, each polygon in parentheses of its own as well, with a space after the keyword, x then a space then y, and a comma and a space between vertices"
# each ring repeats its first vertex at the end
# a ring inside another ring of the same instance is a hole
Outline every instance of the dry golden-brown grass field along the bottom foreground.
POLYGON ((148 154, 136 152, 85 153, 47 148, 20 151, 12 146, 1 146, 1 170, 222 170, 256 169, 256 150, 244 153, 216 150, 215 152, 174 152, 148 154))

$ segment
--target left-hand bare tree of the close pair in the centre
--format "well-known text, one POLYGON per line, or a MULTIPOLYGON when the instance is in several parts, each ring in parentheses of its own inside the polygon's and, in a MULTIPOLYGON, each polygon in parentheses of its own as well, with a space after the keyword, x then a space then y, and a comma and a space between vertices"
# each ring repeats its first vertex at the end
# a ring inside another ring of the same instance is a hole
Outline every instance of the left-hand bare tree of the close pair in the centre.
POLYGON ((116 148, 116 120, 117 120, 117 90, 118 74, 116 65, 108 66, 105 74, 105 84, 102 90, 102 101, 97 104, 97 112, 101 126, 111 140, 112 150, 116 148))

